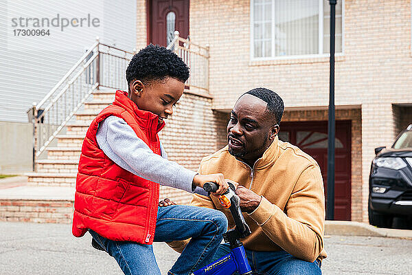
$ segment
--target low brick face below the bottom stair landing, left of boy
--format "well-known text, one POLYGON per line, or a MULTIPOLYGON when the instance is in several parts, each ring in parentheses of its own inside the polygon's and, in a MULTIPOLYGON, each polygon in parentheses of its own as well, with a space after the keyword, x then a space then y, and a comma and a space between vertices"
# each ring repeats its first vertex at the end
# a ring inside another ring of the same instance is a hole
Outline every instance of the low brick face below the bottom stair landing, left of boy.
POLYGON ((73 201, 0 200, 0 221, 71 223, 73 201))

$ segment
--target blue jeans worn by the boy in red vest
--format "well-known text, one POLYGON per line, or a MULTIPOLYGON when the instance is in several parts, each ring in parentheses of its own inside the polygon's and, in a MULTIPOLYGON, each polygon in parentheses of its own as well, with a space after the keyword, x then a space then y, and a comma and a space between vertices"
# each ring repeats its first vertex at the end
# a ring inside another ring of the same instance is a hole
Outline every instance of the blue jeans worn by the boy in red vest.
MULTIPOLYGON (((178 241, 192 238, 168 274, 187 275, 211 263, 227 230, 225 214, 195 206, 159 207, 155 241, 178 241)), ((113 256, 127 275, 161 275, 152 245, 130 241, 111 241, 93 230, 93 239, 113 256)))

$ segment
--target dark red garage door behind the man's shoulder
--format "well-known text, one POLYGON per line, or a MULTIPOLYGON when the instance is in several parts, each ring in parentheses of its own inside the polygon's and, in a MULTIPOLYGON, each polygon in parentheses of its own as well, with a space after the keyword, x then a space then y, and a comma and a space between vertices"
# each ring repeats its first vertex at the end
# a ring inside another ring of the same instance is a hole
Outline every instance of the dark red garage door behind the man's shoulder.
MULTIPOLYGON (((328 122, 282 122, 279 139, 311 155, 321 167, 325 195, 328 179, 328 122)), ((351 122, 336 121, 334 219, 351 218, 351 122)), ((326 201, 327 203, 327 201, 326 201)))

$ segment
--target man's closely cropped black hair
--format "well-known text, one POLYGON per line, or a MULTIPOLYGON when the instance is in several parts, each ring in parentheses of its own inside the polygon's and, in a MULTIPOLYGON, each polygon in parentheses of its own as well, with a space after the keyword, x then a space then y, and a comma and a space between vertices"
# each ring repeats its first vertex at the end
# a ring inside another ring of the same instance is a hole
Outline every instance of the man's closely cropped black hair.
POLYGON ((280 123, 280 120, 282 120, 282 115, 284 112, 284 102, 278 94, 266 88, 251 89, 250 91, 247 91, 244 94, 250 94, 266 102, 266 111, 273 115, 273 118, 275 118, 276 120, 276 124, 280 123))

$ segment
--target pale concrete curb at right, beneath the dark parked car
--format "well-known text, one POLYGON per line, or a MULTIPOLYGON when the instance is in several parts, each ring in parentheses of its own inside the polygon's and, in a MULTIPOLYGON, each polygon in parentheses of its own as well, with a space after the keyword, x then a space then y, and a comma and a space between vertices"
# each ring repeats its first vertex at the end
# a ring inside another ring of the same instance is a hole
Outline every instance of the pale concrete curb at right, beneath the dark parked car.
POLYGON ((412 239, 412 230, 376 228, 358 221, 325 221, 325 234, 412 239))

